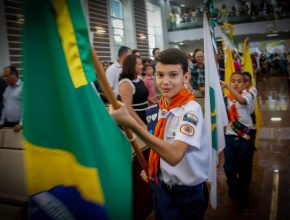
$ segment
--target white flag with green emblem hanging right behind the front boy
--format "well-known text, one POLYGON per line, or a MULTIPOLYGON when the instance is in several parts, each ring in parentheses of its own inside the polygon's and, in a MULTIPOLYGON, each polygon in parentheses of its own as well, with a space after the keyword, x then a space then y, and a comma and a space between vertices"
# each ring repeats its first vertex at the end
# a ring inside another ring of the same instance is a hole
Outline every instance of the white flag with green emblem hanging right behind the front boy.
POLYGON ((224 127, 228 117, 219 82, 217 64, 215 62, 212 37, 206 13, 203 18, 204 61, 205 61, 205 122, 208 129, 211 159, 209 182, 211 183, 210 202, 212 208, 217 207, 217 175, 216 165, 218 153, 225 147, 224 127))

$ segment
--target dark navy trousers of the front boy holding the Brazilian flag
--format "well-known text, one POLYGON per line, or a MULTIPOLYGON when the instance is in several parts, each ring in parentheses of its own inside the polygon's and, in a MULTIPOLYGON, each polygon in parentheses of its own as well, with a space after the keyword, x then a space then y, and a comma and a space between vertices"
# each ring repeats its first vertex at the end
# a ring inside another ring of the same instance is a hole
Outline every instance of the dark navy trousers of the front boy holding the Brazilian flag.
POLYGON ((153 184, 156 220, 202 220, 208 206, 206 184, 196 186, 168 186, 153 184))

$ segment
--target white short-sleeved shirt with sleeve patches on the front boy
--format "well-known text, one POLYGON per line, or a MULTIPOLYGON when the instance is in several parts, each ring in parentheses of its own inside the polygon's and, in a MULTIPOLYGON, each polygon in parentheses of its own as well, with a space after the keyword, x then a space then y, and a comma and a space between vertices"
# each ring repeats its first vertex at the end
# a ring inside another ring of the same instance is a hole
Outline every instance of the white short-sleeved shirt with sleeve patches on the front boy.
POLYGON ((189 145, 185 155, 176 166, 160 158, 162 179, 169 185, 195 186, 208 179, 209 146, 200 105, 190 101, 181 107, 159 110, 158 118, 167 118, 164 140, 174 140, 189 145))

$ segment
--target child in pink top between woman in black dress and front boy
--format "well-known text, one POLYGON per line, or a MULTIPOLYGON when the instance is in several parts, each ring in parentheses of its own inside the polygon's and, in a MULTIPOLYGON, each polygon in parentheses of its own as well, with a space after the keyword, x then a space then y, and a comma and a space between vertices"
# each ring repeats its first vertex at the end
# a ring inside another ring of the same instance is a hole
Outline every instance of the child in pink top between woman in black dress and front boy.
POLYGON ((154 83, 154 69, 150 64, 145 64, 143 68, 143 77, 146 88, 148 89, 148 102, 149 106, 157 103, 156 87, 154 83))

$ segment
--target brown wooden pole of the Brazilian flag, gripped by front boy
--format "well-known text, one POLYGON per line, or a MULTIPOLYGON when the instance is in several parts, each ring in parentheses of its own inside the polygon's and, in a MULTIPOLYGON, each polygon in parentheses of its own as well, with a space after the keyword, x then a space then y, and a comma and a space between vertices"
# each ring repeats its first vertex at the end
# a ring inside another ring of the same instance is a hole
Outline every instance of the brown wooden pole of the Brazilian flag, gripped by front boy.
MULTIPOLYGON (((115 94, 113 93, 113 90, 112 90, 111 86, 109 85, 107 78, 105 76, 105 71, 103 69, 103 66, 102 66, 96 52, 94 51, 94 49, 92 47, 91 47, 91 52, 92 52, 94 68, 95 68, 96 74, 98 76, 98 81, 100 83, 100 86, 101 86, 103 92, 105 93, 107 99, 112 104, 113 108, 119 109, 121 106, 117 102, 115 94)), ((146 162, 146 160, 145 160, 145 158, 140 150, 140 147, 136 141, 134 134, 128 128, 125 128, 122 126, 122 129, 125 131, 127 138, 130 140, 132 147, 134 149, 134 152, 136 153, 137 159, 138 159, 142 169, 146 172, 146 174, 148 174, 147 173, 147 162, 146 162)))

